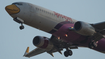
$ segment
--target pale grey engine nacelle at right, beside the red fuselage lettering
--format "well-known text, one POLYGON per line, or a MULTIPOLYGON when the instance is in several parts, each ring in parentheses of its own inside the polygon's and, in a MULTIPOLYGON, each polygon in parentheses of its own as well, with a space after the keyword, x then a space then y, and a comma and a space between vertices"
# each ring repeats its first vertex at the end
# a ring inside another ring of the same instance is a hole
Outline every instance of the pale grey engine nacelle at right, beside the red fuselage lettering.
POLYGON ((84 36, 92 36, 95 33, 95 29, 90 24, 81 21, 75 23, 74 29, 77 33, 84 36))

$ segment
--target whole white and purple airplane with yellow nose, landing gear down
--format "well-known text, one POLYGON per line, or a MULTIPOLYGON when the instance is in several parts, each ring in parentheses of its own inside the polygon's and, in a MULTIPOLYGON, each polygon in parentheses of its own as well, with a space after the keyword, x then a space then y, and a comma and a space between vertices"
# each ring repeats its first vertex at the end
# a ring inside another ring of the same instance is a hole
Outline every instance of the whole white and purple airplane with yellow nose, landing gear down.
POLYGON ((33 57, 47 52, 54 57, 53 53, 66 49, 64 56, 72 56, 71 49, 78 47, 90 48, 105 53, 105 22, 95 24, 77 21, 55 11, 27 3, 14 2, 5 7, 13 20, 20 24, 20 30, 24 24, 52 34, 51 38, 35 36, 34 50, 29 52, 27 47, 25 57, 33 57))

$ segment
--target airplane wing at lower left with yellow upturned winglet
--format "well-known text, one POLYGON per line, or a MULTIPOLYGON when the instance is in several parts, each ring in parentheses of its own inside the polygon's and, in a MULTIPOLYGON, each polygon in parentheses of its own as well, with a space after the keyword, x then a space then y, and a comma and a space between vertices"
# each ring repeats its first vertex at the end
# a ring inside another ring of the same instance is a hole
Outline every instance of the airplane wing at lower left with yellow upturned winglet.
POLYGON ((24 54, 24 56, 25 57, 32 57, 32 56, 36 56, 38 54, 47 52, 48 54, 50 54, 51 56, 54 57, 53 53, 54 52, 59 52, 60 54, 62 54, 61 51, 63 50, 63 48, 68 47, 70 49, 78 49, 77 46, 71 45, 71 44, 63 42, 61 40, 58 40, 58 38, 53 36, 53 35, 49 39, 49 41, 52 42, 53 45, 54 45, 54 47, 51 50, 47 50, 47 49, 43 49, 43 48, 36 48, 36 49, 32 50, 31 52, 29 52, 29 47, 28 47, 25 54, 24 54))

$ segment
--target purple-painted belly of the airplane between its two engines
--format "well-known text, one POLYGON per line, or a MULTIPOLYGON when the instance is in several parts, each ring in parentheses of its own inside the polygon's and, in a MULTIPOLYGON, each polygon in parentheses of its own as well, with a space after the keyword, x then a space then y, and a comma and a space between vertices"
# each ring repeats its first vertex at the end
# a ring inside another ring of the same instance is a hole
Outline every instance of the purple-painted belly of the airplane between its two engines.
POLYGON ((61 24, 58 24, 54 27, 55 29, 58 29, 58 31, 55 31, 52 34, 57 37, 60 37, 66 42, 72 42, 72 43, 76 43, 76 42, 79 43, 81 40, 86 38, 84 36, 81 36, 75 33, 74 31, 70 31, 68 29, 69 27, 74 27, 74 24, 70 23, 69 21, 62 22, 61 24))

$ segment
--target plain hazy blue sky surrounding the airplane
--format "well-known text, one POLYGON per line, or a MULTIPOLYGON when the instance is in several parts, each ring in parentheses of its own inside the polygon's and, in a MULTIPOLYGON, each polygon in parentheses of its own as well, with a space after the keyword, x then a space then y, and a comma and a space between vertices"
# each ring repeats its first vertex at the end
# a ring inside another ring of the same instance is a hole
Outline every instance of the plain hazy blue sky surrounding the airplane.
MULTIPOLYGON (((51 34, 27 25, 20 30, 20 24, 5 11, 5 6, 13 2, 29 2, 88 23, 105 21, 105 0, 0 0, 0 59, 29 59, 23 54, 27 46, 30 51, 36 48, 32 44, 33 38, 37 35, 51 37, 51 34)), ((105 54, 89 48, 72 51, 73 56, 70 57, 56 52, 55 57, 43 53, 30 59, 105 59, 105 54)))

